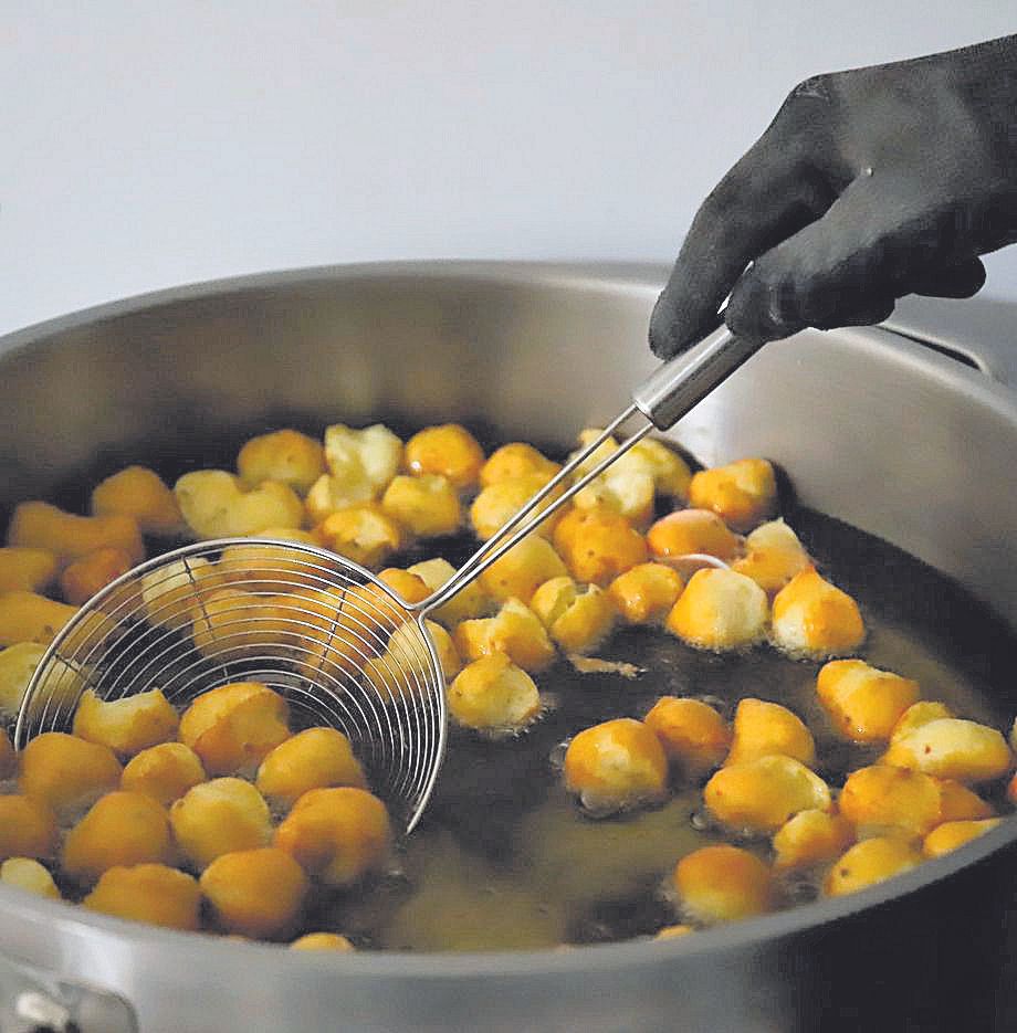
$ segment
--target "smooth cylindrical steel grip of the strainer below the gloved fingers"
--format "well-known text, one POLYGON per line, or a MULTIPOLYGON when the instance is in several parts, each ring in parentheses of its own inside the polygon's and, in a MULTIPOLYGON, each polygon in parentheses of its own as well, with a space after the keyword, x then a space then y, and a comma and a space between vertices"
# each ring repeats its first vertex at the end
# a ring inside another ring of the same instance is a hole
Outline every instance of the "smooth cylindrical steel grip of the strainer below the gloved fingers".
POLYGON ((735 337, 722 324, 664 362, 632 392, 632 401, 658 430, 669 430, 762 347, 735 337))

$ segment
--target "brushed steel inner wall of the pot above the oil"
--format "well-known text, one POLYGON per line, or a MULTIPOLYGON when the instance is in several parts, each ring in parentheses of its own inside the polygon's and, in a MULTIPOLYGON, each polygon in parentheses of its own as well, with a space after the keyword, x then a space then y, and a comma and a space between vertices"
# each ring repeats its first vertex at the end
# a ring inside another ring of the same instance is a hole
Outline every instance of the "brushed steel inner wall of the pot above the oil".
MULTIPOLYGON (((126 303, 0 355, 0 506, 140 455, 289 419, 461 420, 559 447, 653 368, 640 271, 325 270, 126 303)), ((4 349, 4 342, 0 342, 4 349)), ((1017 415, 978 373, 880 330, 767 346, 671 436, 706 464, 766 455, 800 502, 962 580, 1017 623, 1007 488, 1017 415), (993 393, 995 392, 995 393, 993 393)))

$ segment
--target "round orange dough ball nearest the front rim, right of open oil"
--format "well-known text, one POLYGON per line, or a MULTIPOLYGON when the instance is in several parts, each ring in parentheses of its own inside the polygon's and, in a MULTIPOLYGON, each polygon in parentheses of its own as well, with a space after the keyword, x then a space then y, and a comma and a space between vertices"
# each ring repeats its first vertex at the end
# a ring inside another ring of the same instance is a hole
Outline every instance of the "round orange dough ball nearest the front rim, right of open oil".
POLYGON ((703 846, 686 854, 671 881, 683 909, 699 921, 764 915, 776 902, 769 868, 738 846, 703 846))

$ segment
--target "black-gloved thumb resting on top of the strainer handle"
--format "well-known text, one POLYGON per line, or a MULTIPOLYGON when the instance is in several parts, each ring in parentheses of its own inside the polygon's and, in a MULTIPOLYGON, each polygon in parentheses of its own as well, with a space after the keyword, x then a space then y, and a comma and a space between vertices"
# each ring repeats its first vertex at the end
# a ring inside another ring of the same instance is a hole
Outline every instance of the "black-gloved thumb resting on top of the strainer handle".
POLYGON ((821 219, 742 276, 727 304, 727 325, 762 341, 882 312, 887 297, 911 291, 906 285, 930 267, 954 263, 951 225, 948 212, 923 210, 903 180, 857 179, 821 219))

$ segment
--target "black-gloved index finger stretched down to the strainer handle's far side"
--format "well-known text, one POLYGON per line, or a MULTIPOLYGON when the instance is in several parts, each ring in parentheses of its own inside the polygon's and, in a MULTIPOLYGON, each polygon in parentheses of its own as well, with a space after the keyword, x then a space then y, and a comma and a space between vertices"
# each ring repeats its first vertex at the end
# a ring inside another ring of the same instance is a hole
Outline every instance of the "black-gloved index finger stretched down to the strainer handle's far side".
POLYGON ((671 358, 717 326, 745 266, 817 219, 835 196, 775 123, 696 212, 650 318, 653 354, 671 358))

